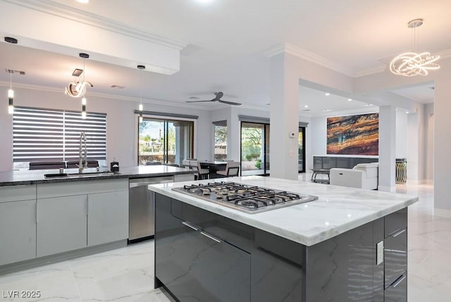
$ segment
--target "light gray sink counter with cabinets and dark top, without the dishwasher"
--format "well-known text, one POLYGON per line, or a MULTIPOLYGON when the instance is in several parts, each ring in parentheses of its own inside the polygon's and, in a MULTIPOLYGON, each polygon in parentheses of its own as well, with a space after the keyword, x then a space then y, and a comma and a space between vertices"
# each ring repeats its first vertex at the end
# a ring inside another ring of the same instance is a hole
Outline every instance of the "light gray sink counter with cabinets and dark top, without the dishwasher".
POLYGON ((166 165, 0 172, 0 274, 126 246, 130 181, 194 180, 193 172, 166 165))

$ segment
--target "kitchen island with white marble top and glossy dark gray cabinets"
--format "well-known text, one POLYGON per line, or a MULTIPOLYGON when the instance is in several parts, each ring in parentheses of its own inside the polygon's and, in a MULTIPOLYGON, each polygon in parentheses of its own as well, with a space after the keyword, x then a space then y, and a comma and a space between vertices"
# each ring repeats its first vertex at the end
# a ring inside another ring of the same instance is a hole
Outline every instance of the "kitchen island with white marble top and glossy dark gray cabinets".
POLYGON ((318 199, 247 214, 172 190, 192 183, 149 186, 156 287, 180 301, 407 301, 407 206, 418 198, 271 177, 228 181, 318 199))

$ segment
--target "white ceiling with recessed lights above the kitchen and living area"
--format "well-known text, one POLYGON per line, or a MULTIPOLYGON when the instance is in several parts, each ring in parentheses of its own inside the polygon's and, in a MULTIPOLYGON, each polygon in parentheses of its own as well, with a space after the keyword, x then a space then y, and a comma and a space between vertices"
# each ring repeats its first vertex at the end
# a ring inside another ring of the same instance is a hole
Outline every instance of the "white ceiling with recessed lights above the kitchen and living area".
MULTIPOLYGON (((407 22, 414 18, 424 18, 422 46, 433 54, 451 49, 451 39, 445 38, 451 32, 449 0, 429 0, 427 4, 423 0, 211 0, 209 4, 196 0, 109 0, 108 5, 101 0, 89 4, 55 2, 187 43, 181 52, 180 71, 174 75, 144 73, 89 59, 85 62, 86 80, 94 84, 89 92, 124 98, 142 96, 163 103, 186 104, 191 96, 211 99, 213 92, 222 91, 225 100, 267 108, 270 64, 264 52, 283 42, 351 76, 381 71, 388 58, 409 50, 411 30, 407 22), (113 89, 111 85, 125 88, 113 89)), ((73 80, 73 69, 82 68, 82 59, 20 47, 19 41, 18 45, 0 43, 0 66, 27 73, 13 75, 18 85, 61 87, 63 91, 73 80)), ((8 73, 1 72, 0 80, 8 81, 8 73)), ((432 102, 433 90, 426 86, 396 93, 432 102)), ((299 102, 311 103, 309 115, 324 109, 363 106, 334 96, 313 102, 316 93, 310 91, 309 95, 307 91, 300 91, 299 102)), ((227 105, 189 106, 213 109, 227 105)))

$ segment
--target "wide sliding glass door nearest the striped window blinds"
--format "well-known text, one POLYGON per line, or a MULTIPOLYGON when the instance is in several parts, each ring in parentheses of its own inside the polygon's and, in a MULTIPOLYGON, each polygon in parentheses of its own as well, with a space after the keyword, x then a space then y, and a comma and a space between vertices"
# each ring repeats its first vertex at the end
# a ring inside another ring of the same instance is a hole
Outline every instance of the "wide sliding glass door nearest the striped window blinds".
POLYGON ((147 162, 182 164, 192 157, 193 121, 144 117, 138 131, 138 165, 147 162))

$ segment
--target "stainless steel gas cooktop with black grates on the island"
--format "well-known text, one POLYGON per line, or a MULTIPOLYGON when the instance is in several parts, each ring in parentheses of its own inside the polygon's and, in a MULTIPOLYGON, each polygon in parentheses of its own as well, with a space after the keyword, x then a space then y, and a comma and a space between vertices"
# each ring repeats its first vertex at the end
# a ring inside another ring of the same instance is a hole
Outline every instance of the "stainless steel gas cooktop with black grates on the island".
POLYGON ((249 214, 307 203, 317 196, 274 190, 243 183, 215 182, 173 188, 183 194, 218 203, 249 214))

